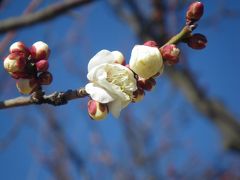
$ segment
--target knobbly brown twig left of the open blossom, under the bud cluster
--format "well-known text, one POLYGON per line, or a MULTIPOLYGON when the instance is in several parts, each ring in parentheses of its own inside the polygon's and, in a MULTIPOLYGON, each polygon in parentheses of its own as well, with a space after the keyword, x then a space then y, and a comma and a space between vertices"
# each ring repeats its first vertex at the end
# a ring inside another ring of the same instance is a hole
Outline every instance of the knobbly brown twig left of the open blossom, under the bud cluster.
POLYGON ((27 106, 31 104, 51 104, 54 106, 66 104, 70 100, 83 98, 88 96, 84 88, 77 90, 68 90, 66 92, 54 92, 50 95, 43 95, 37 97, 36 93, 33 93, 28 97, 17 97, 5 101, 0 101, 0 109, 27 106))

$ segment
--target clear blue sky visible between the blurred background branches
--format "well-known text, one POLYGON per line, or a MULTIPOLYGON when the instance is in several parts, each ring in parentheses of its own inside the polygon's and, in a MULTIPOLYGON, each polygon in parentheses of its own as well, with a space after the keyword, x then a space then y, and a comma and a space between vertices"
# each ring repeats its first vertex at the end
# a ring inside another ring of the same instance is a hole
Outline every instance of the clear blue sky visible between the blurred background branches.
MULTIPOLYGON (((42 7, 47 6, 50 2, 50 0, 44 1, 42 7)), ((216 1, 203 2, 206 13, 203 21, 199 23, 197 32, 204 33, 209 43, 207 48, 202 51, 186 48, 189 64, 209 97, 221 99, 239 118, 240 96, 238 92, 240 92, 240 84, 237 78, 240 76, 238 70, 240 65, 238 56, 240 24, 238 19, 223 17, 216 25, 205 27, 202 24, 211 14, 218 12, 218 6, 216 1)), ((0 19, 18 16, 27 4, 27 0, 21 1, 20 5, 16 5, 16 1, 9 1, 8 8, 0 10, 0 19)), ((223 6, 238 9, 239 12, 240 2, 230 0, 223 6)), ((69 15, 60 17, 46 24, 20 30, 12 41, 21 40, 30 46, 35 41, 43 40, 52 48, 50 71, 53 73, 54 81, 51 86, 45 88, 46 92, 84 86, 87 83, 85 76, 87 63, 95 53, 101 49, 120 50, 126 55, 126 59, 129 59, 132 47, 138 43, 134 32, 127 24, 114 16, 104 1, 77 9, 74 12, 79 14, 80 20, 77 21, 69 15)), ((1 56, 2 53, 5 52, 1 52, 1 56)), ((3 68, 0 70, 4 71, 3 68)), ((1 82, 7 82, 8 85, 2 90, 1 99, 18 96, 14 80, 9 76, 4 78, 1 82)), ((163 103, 166 103, 165 100, 170 92, 175 91, 167 77, 163 76, 157 82, 155 90, 148 93, 143 102, 128 107, 140 122, 144 120, 144 117, 149 117, 148 113, 151 112, 151 109, 156 109, 156 111, 159 109, 159 112, 154 112, 158 117, 161 116, 161 109, 165 108, 163 103), (157 102, 156 98, 159 99, 157 102), (146 109, 146 106, 149 109, 146 109)), ((223 150, 217 127, 199 114, 181 92, 176 91, 172 94, 175 97, 170 98, 173 101, 172 105, 168 102, 168 105, 171 106, 172 120, 170 123, 173 124, 170 125, 171 133, 168 132, 165 122, 161 122, 161 118, 159 118, 157 126, 154 127, 158 136, 154 136, 155 139, 153 137, 152 146, 156 145, 159 138, 170 139, 172 142, 176 141, 183 145, 177 146, 162 158, 161 171, 165 172, 169 164, 174 164, 179 170, 184 169, 192 154, 196 154, 200 159, 202 168, 209 165, 215 167, 216 164, 217 167, 225 167, 238 157, 223 150), (186 117, 183 115, 184 113, 186 113, 186 117)), ((97 128, 112 153, 118 154, 119 146, 124 145, 124 135, 119 122, 123 119, 123 115, 119 120, 110 115, 105 121, 96 123, 88 118, 86 103, 87 99, 84 99, 70 102, 66 106, 50 108, 55 109, 58 121, 64 127, 69 143, 73 144, 81 155, 87 157, 90 154, 90 127, 97 128)), ((29 119, 28 123, 22 125, 23 128, 20 129, 17 137, 7 149, 0 152, 0 178, 32 179, 31 177, 37 177, 37 179, 41 179, 49 177, 49 172, 43 168, 33 153, 34 148, 48 152, 45 139, 40 133, 36 133, 45 128, 45 117, 40 113, 38 107, 3 110, 0 112, 0 117, 0 139, 6 137, 18 121, 29 119)), ((118 158, 121 161, 121 158, 126 157, 123 155, 118 158)), ((197 169, 195 170, 197 171, 197 169)))

